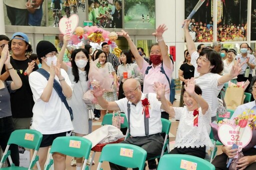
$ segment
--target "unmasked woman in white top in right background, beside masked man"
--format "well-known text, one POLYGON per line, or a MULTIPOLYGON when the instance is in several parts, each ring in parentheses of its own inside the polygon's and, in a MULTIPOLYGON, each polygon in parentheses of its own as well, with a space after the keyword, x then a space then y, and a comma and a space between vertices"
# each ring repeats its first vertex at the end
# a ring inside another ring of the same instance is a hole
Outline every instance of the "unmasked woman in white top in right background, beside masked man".
MULTIPOLYGON (((227 50, 226 53, 226 59, 223 60, 223 66, 224 69, 222 71, 222 74, 229 74, 230 70, 232 69, 232 66, 236 64, 236 60, 235 60, 235 55, 236 55, 236 51, 232 48, 230 48, 229 50, 227 50)), ((234 77, 231 82, 236 83, 236 77, 234 77)))

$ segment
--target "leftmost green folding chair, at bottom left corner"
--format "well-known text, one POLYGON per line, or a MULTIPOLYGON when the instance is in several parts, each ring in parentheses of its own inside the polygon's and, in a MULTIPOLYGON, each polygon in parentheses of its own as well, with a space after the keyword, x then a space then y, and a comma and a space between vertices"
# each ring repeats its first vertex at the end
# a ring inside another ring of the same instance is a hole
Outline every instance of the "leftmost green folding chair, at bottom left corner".
POLYGON ((36 154, 37 154, 37 151, 39 150, 41 141, 42 141, 42 134, 36 130, 22 129, 22 130, 13 131, 9 137, 6 149, 2 156, 2 159, 0 162, 0 170, 32 170, 35 164, 37 166, 37 169, 40 170, 40 166, 38 162, 39 158, 36 154), (18 146, 22 146, 24 148, 34 150, 33 157, 31 159, 31 162, 28 168, 15 167, 14 164, 12 164, 12 161, 10 158, 10 151, 8 151, 10 144, 16 144, 18 146), (10 162, 11 167, 1 168, 7 158, 10 162))

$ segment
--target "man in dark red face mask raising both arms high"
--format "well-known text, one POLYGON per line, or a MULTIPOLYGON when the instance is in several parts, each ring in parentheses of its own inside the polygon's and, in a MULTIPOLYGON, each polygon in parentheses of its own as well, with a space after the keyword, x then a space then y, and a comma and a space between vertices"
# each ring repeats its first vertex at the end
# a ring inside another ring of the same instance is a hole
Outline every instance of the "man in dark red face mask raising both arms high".
MULTIPOLYGON (((135 57, 136 63, 140 69, 140 72, 144 76, 143 93, 156 93, 153 86, 154 82, 160 82, 165 84, 165 98, 170 99, 169 83, 171 82, 171 75, 173 70, 173 64, 169 58, 168 50, 163 40, 162 34, 166 31, 166 25, 161 24, 157 27, 153 35, 155 35, 158 43, 152 44, 149 52, 149 63, 147 63, 142 56, 140 56, 135 44, 132 42, 128 32, 121 30, 116 32, 117 35, 123 36, 128 41, 131 53, 135 57)), ((161 112, 161 118, 169 119, 169 114, 161 112)), ((161 134, 164 138, 165 134, 161 134)), ((156 169, 155 161, 148 161, 149 170, 156 169)))

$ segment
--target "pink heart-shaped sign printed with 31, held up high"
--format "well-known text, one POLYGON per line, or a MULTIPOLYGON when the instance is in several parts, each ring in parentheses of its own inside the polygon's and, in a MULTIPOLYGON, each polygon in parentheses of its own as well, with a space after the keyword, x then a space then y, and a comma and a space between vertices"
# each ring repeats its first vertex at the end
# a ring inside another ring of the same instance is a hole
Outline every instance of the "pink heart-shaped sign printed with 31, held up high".
POLYGON ((78 25, 78 16, 72 14, 69 18, 63 16, 58 23, 59 31, 64 35, 71 35, 78 25))

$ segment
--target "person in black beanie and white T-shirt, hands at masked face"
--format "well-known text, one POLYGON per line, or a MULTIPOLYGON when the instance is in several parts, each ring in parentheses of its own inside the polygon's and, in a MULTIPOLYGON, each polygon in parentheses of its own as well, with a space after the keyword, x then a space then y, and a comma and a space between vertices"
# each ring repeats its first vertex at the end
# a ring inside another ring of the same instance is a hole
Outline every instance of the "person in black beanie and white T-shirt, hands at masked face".
MULTIPOLYGON (((31 129, 37 130, 43 135, 37 153, 40 168, 43 169, 48 149, 53 140, 57 137, 70 136, 73 130, 69 111, 61 101, 53 82, 59 84, 66 98, 72 96, 72 90, 68 75, 60 68, 55 46, 49 41, 39 41, 36 53, 42 65, 40 70, 29 74, 28 81, 34 100, 31 129)), ((65 155, 54 153, 52 157, 54 169, 65 170, 65 155)))

